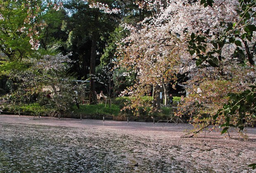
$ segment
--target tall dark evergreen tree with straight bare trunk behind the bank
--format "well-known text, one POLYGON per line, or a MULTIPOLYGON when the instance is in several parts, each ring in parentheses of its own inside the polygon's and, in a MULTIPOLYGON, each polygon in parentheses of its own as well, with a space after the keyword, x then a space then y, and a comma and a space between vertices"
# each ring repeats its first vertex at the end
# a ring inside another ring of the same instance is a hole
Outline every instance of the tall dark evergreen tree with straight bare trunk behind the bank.
POLYGON ((65 30, 69 32, 67 46, 75 50, 73 56, 81 59, 76 68, 82 68, 81 78, 90 74, 90 103, 96 103, 95 96, 95 67, 100 62, 100 54, 104 49, 106 40, 115 26, 116 13, 114 12, 114 1, 69 1, 64 7, 71 13, 65 30), (82 19, 82 20, 81 20, 82 19), (83 31, 83 32, 81 32, 83 31), (78 46, 78 47, 77 47, 78 46))

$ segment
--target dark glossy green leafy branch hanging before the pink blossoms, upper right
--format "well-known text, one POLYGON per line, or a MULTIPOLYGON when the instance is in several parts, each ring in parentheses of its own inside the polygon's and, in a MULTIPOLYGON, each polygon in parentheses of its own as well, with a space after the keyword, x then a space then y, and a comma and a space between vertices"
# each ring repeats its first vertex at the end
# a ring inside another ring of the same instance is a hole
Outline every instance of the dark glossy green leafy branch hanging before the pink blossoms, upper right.
MULTIPOLYGON (((237 23, 223 23, 223 26, 227 25, 223 35, 217 36, 216 40, 208 39, 205 36, 190 35, 190 41, 188 42, 188 51, 191 55, 196 54, 196 65, 201 65, 206 62, 213 67, 218 67, 219 62, 225 57, 221 55, 225 44, 235 44, 237 47, 234 51, 234 56, 241 55, 246 57, 251 65, 254 65, 254 50, 256 44, 249 47, 248 41, 252 42, 253 32, 256 31, 256 26, 252 24, 251 19, 256 17, 255 0, 239 0, 241 9, 237 10, 240 20, 237 23), (242 26, 241 26, 242 25, 242 26), (244 46, 242 45, 244 44, 244 46), (246 53, 244 53, 244 50, 246 53)), ((204 7, 213 6, 213 0, 201 0, 201 5, 204 7)))

